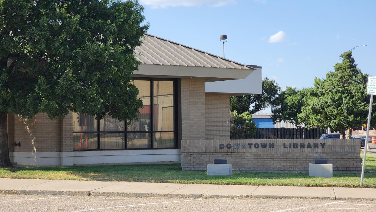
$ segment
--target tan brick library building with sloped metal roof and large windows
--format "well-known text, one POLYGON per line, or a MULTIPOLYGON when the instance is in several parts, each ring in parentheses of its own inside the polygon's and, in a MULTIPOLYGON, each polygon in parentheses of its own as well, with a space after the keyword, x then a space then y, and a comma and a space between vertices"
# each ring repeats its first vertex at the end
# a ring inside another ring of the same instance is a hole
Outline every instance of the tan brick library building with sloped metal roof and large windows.
POLYGON ((8 115, 11 162, 85 165, 180 161, 181 140, 229 139, 230 96, 261 93, 261 67, 146 34, 133 72, 138 121, 70 112, 50 120, 8 115), (13 143, 20 143, 14 146, 13 143))

